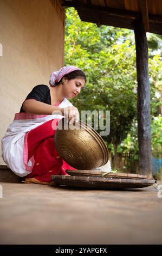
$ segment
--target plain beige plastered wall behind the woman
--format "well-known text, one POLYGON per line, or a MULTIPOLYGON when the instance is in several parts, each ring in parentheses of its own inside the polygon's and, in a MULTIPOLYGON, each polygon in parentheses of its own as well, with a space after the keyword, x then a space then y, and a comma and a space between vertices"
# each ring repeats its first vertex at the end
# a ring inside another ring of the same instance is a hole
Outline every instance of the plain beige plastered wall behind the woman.
POLYGON ((59 0, 0 0, 0 24, 2 139, 30 90, 64 64, 64 13, 59 0))

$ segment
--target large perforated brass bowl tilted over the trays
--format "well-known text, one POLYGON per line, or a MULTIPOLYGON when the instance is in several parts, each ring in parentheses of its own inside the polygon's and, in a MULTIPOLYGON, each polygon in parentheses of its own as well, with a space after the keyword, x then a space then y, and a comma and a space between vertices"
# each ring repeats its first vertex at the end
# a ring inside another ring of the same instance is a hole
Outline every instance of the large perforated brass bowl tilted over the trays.
POLYGON ((106 144, 92 127, 79 121, 74 130, 72 126, 69 128, 64 129, 61 120, 54 136, 56 149, 64 161, 81 170, 93 170, 107 163, 106 144))

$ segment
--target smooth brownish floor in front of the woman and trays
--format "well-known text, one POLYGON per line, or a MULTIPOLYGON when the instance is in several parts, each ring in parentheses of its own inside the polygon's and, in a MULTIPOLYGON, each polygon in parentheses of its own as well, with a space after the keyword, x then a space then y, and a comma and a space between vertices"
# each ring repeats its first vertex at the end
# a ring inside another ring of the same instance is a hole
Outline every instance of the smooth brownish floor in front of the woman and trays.
POLYGON ((102 191, 1 185, 1 244, 162 243, 162 198, 152 186, 102 191))

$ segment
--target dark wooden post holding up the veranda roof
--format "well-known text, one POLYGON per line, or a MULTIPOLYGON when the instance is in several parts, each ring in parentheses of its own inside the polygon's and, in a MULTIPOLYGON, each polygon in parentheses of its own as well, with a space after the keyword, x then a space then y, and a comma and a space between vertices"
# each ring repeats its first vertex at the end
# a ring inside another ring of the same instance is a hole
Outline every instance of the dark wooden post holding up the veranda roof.
POLYGON ((141 20, 135 20, 134 34, 138 82, 139 173, 147 175, 147 178, 152 178, 148 44, 145 28, 141 20))

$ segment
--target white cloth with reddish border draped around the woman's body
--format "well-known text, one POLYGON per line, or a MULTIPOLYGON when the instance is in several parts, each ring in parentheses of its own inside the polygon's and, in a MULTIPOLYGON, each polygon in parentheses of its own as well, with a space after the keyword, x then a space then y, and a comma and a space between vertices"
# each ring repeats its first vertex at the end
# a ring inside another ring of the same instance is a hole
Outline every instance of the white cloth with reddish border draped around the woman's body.
MULTIPOLYGON (((64 99, 59 107, 73 106, 64 99)), ((37 126, 52 120, 62 119, 59 114, 35 115, 28 113, 16 113, 14 121, 9 125, 5 136, 2 138, 2 157, 8 168, 18 176, 26 176, 31 173, 34 166, 34 157, 28 161, 27 133, 37 126)))

